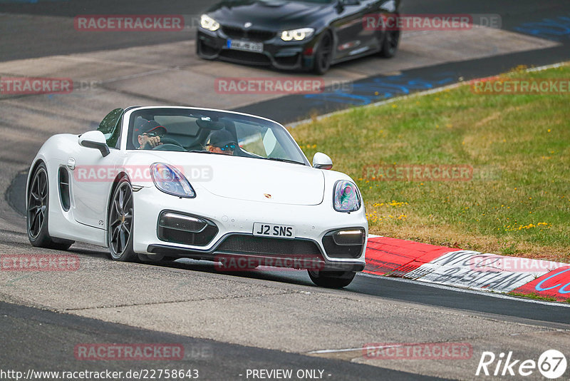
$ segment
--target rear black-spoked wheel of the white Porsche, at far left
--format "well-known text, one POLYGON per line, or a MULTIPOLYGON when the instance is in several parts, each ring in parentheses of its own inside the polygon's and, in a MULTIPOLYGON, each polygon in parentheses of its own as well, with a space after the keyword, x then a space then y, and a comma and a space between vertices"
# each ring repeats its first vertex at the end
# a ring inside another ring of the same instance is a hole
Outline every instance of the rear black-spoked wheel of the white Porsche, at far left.
POLYGON ((67 250, 72 240, 52 238, 48 233, 49 183, 46 164, 40 163, 31 178, 28 188, 28 210, 26 213, 28 239, 38 248, 67 250))

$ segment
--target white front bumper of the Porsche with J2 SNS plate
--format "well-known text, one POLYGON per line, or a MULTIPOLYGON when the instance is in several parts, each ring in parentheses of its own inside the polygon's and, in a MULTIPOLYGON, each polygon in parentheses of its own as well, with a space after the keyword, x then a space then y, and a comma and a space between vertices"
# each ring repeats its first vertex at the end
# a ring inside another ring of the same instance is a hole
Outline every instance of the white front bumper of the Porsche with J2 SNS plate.
POLYGON ((251 256, 263 260, 311 257, 321 261, 321 270, 360 271, 366 264, 368 223, 363 207, 353 213, 338 213, 329 205, 331 200, 327 198, 319 205, 289 205, 222 198, 204 189, 197 191, 196 198, 177 198, 162 193, 155 187, 142 188, 134 195, 133 249, 136 253, 202 260, 215 260, 217 255, 251 256), (192 215, 215 225, 215 229, 209 230, 211 239, 202 240, 198 245, 165 240, 164 234, 158 233, 158 220, 165 210, 192 215), (252 234, 256 222, 294 225, 296 238, 256 237, 252 234), (329 255, 331 247, 325 236, 340 229, 363 230, 361 250, 353 250, 350 255, 338 255, 336 251, 329 255), (232 240, 241 243, 231 242, 232 240))

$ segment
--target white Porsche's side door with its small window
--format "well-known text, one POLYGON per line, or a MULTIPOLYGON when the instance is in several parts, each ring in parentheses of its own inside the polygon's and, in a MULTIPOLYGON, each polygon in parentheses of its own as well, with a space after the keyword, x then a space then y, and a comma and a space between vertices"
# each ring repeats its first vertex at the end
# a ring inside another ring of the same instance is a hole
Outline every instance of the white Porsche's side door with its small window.
POLYGON ((78 223, 95 228, 107 228, 107 208, 117 168, 123 161, 120 146, 120 129, 123 109, 116 108, 101 121, 98 131, 105 135, 109 146, 108 156, 95 148, 76 146, 70 151, 68 168, 71 169, 71 205, 73 218, 78 223), (73 169, 72 169, 73 168, 73 169))

